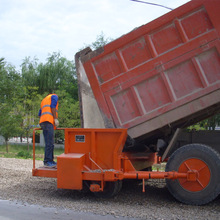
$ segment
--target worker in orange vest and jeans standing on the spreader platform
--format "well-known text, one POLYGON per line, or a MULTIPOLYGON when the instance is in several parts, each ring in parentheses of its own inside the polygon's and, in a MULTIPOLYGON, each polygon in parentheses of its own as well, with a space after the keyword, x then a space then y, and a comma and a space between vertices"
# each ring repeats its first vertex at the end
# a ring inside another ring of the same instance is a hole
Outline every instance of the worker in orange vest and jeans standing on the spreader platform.
POLYGON ((45 140, 44 167, 56 168, 54 161, 54 129, 59 126, 58 121, 58 96, 55 93, 48 94, 41 102, 38 113, 40 126, 43 129, 45 140))

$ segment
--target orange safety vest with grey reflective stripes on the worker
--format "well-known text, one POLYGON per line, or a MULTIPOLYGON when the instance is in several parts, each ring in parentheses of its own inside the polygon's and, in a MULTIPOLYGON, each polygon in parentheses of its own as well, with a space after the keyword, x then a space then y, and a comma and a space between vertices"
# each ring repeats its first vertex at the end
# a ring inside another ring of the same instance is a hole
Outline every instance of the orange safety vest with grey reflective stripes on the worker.
MULTIPOLYGON (((50 94, 46 96, 41 102, 41 116, 40 123, 48 121, 54 125, 54 118, 51 110, 51 96, 56 94, 50 94)), ((57 96, 57 95, 56 95, 57 96)), ((58 118, 58 102, 56 105, 56 117, 58 118)))

